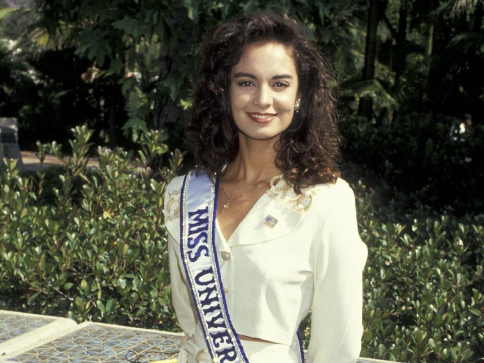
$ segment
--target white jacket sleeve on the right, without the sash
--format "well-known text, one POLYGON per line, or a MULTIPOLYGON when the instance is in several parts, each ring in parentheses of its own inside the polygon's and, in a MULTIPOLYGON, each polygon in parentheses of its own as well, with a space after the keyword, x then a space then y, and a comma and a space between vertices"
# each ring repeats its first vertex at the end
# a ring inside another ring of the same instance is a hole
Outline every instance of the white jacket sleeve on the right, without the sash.
POLYGON ((313 255, 314 297, 307 363, 355 363, 361 350, 362 270, 355 200, 345 184, 323 216, 313 255))

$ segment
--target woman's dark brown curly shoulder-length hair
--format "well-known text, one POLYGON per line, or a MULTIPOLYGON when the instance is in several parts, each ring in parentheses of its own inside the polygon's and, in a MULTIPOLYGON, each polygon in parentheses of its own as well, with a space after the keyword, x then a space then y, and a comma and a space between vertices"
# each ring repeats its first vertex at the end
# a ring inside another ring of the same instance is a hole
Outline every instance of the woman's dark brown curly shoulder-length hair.
POLYGON ((300 110, 276 144, 276 166, 297 193, 339 176, 339 132, 331 67, 304 28, 278 10, 239 15, 216 26, 202 41, 187 141, 199 168, 222 173, 238 152, 230 108, 230 72, 247 44, 271 41, 292 49, 299 78, 300 110))

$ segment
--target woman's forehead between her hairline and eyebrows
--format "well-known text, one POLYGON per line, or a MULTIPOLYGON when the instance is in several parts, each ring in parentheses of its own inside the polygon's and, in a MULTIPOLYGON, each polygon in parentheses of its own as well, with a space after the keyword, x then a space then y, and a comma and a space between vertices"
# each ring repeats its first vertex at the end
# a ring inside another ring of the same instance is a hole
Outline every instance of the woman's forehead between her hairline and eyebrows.
POLYGON ((297 70, 290 47, 274 42, 257 42, 244 46, 240 61, 233 66, 231 73, 236 72, 249 72, 256 76, 296 76, 297 70))

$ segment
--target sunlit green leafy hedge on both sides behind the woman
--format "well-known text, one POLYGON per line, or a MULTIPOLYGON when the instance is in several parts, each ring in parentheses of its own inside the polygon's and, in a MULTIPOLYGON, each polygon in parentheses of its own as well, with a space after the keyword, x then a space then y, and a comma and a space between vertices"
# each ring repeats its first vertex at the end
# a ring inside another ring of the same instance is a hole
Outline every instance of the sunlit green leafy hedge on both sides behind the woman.
MULTIPOLYGON (((162 133, 150 132, 141 158, 99 148, 100 167, 89 169, 90 134, 75 130, 73 155, 61 168, 21 175, 15 161, 4 161, 0 308, 177 330, 162 210, 181 155, 173 152, 170 167, 153 174, 150 159, 167 156, 167 148, 162 133)), ((47 151, 62 157, 56 143, 39 150, 41 160, 47 151)), ((361 355, 469 363, 484 357, 484 215, 402 209, 361 182, 353 189, 369 249, 361 355)))

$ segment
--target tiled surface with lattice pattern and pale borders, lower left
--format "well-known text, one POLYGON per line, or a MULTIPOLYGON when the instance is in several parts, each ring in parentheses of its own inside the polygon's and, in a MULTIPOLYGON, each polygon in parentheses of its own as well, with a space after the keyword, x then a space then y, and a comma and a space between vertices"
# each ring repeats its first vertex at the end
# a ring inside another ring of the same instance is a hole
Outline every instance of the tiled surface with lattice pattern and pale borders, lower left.
POLYGON ((0 310, 2 362, 128 362, 176 358, 182 334, 0 310), (48 329, 50 326, 50 329, 48 329), (135 355, 136 353, 136 355, 135 355))

